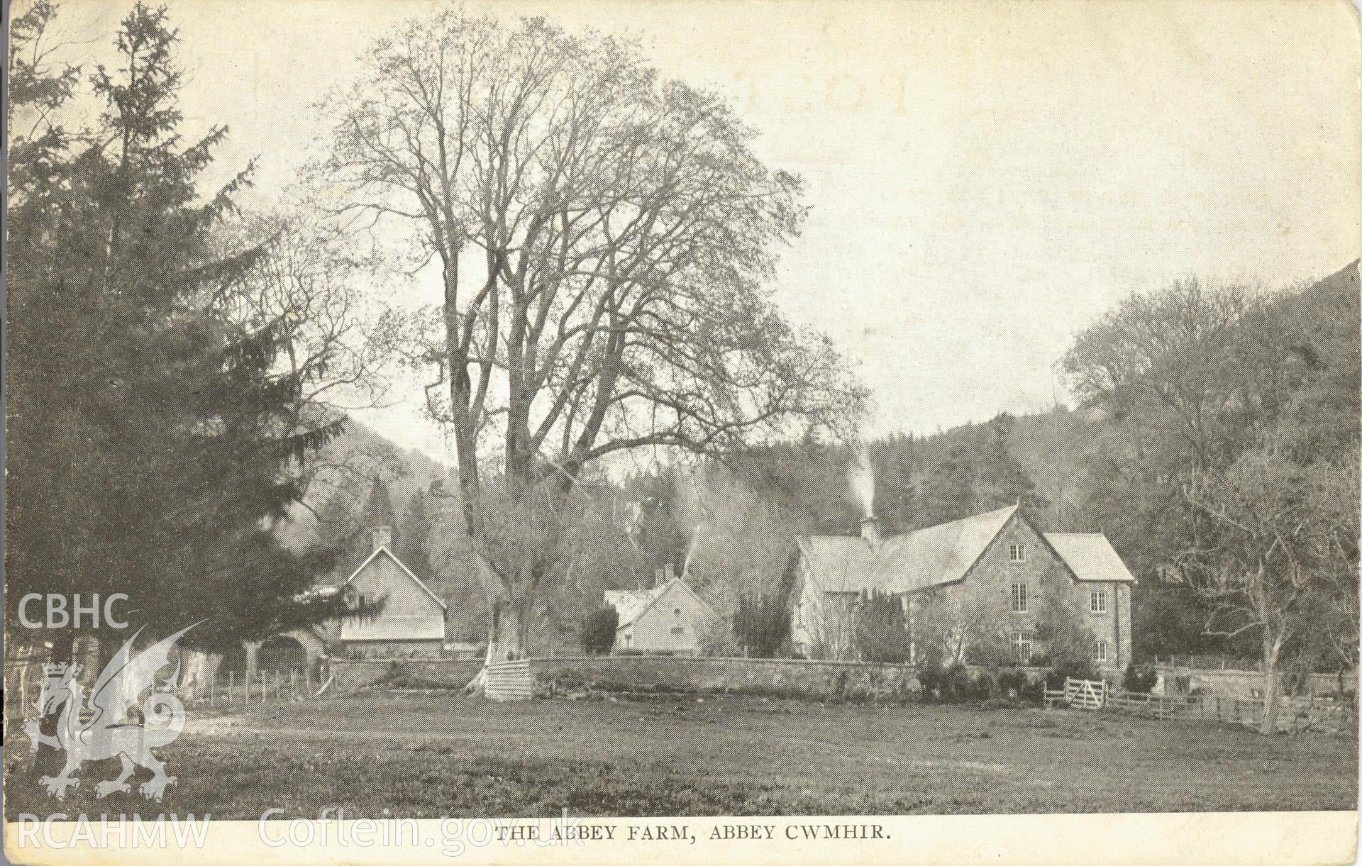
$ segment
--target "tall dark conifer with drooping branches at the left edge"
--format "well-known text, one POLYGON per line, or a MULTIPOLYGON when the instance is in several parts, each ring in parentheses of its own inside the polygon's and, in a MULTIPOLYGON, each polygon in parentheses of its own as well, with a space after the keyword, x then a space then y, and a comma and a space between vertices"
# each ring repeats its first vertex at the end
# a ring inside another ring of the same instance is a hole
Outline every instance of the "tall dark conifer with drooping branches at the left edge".
POLYGON ((121 591, 148 633, 204 620, 185 643, 230 645, 339 611, 305 594, 330 557, 274 530, 342 419, 279 372, 278 325, 227 312, 268 245, 221 252, 249 166, 199 189, 226 129, 184 143, 165 10, 139 3, 116 44, 104 112, 29 163, 10 237, 7 614, 30 588, 121 591))

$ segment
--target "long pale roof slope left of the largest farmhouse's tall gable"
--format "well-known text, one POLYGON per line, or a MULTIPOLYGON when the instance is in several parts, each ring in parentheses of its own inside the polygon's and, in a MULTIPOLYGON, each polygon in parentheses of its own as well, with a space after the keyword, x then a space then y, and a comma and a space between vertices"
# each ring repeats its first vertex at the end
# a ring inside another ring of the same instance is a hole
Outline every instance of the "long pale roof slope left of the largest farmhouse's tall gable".
POLYGON ((824 592, 914 592, 964 577, 1016 509, 892 535, 878 547, 857 535, 812 535, 799 547, 824 592))

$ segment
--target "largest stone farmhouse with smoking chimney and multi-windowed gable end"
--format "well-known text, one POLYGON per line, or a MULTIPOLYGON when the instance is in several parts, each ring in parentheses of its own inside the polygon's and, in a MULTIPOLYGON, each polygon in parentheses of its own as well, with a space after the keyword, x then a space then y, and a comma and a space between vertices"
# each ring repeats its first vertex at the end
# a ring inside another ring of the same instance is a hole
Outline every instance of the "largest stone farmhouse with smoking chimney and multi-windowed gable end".
POLYGON ((910 639, 928 598, 947 599, 1001 628, 1019 664, 1046 651, 1036 625, 1058 602, 1092 633, 1099 670, 1130 662, 1135 577, 1111 543, 1100 532, 1041 532, 1016 505, 888 538, 874 517, 861 522, 859 536, 802 536, 797 569, 791 633, 809 658, 855 658, 851 611, 862 594, 880 591, 900 598, 910 639))

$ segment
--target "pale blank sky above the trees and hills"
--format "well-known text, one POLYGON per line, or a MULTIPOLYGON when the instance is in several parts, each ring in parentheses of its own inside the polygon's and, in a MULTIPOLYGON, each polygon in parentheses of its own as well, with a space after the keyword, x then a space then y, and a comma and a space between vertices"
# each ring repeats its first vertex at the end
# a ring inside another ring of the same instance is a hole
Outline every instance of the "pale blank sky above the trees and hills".
MULTIPOLYGON (((170 0, 193 124, 296 177, 306 106, 425 3, 170 0)), ((470 3, 470 8, 484 4, 470 3)), ((808 182, 778 300, 872 388, 872 432, 1064 398, 1054 362, 1132 290, 1294 283, 1358 256, 1358 30, 1346 0, 492 3, 637 35, 730 98, 808 182)), ((102 41, 131 3, 67 0, 102 41)), ((436 302, 434 280, 409 301, 436 302)), ((448 458, 413 404, 362 415, 448 458)))

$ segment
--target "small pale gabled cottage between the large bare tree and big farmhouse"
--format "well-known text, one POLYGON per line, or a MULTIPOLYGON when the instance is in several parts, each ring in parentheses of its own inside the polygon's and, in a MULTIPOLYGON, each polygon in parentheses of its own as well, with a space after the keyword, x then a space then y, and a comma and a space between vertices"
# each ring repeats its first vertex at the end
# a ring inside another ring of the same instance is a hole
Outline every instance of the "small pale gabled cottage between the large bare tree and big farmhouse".
POLYGON ((606 590, 605 603, 620 614, 614 654, 699 655, 700 635, 718 618, 680 577, 651 590, 606 590))

